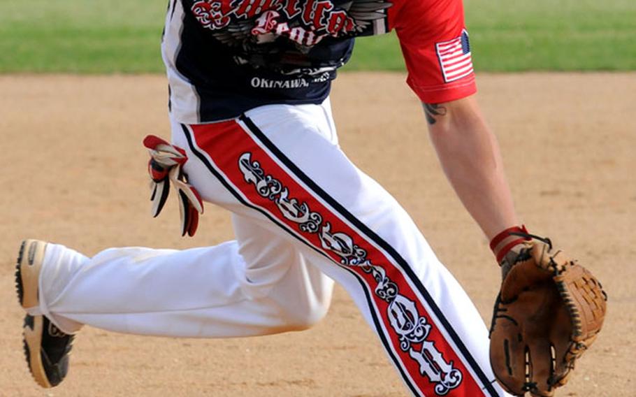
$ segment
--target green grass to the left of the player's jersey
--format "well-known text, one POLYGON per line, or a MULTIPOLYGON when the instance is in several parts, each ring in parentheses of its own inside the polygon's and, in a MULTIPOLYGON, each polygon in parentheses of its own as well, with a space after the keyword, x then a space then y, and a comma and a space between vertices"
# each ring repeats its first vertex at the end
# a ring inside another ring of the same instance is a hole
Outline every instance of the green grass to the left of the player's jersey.
POLYGON ((0 0, 0 72, 161 72, 166 1, 0 0))

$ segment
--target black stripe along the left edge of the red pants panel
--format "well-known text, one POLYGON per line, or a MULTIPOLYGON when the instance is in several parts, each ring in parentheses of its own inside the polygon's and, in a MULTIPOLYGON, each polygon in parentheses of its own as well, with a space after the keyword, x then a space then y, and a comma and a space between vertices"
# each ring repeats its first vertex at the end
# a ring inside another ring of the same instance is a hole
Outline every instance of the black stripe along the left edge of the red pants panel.
MULTIPOLYGON (((240 126, 238 126, 238 127, 240 128, 240 126)), ((262 215, 264 215, 265 217, 270 219, 270 221, 272 221, 274 224, 279 226, 282 230, 286 231, 287 233, 289 233, 289 235, 291 235, 292 237, 296 238, 296 240, 298 240, 301 243, 303 243, 304 245, 310 247, 315 252, 321 254, 323 257, 325 257, 329 261, 333 262, 334 264, 337 264, 338 266, 340 266, 340 268, 343 268, 343 269, 347 270, 347 272, 351 273, 352 275, 354 275, 356 277, 356 280, 358 280, 358 282, 361 285, 361 289, 364 292, 364 295, 365 295, 365 298, 366 298, 366 301, 367 301, 367 305, 369 307, 369 312, 371 314, 371 317, 373 317, 373 324, 375 324, 375 328, 377 329, 377 335, 380 336, 380 341, 382 342, 382 345, 384 345, 384 349, 386 350, 387 354, 389 354, 389 356, 391 357, 391 360, 393 360, 393 362, 395 363, 395 366, 398 369, 398 372, 400 373, 400 376, 403 378, 405 384, 407 384, 407 386, 409 387, 409 389, 412 391, 412 393, 415 396, 418 396, 419 392, 411 384, 411 382, 410 382, 409 378, 407 377, 406 373, 404 372, 403 368, 400 366, 400 361, 395 356, 395 354, 393 354, 393 352, 391 351, 391 344, 389 343, 388 340, 386 340, 386 335, 384 335, 384 332, 382 331, 382 326, 380 325, 380 319, 377 318, 375 310, 373 310, 373 307, 374 307, 373 306, 373 298, 370 296, 370 292, 367 290, 366 284, 363 281, 362 277, 360 275, 358 275, 356 272, 354 272, 353 270, 347 268, 346 266, 342 266, 342 264, 339 264, 337 261, 334 261, 333 259, 331 259, 331 257, 329 257, 326 253, 322 252, 321 250, 319 250, 314 245, 311 245, 307 241, 305 241, 302 238, 296 236, 296 233, 291 231, 287 227, 287 225, 282 224, 281 222, 279 222, 278 219, 276 219, 275 217, 271 216, 266 210, 263 210, 263 208, 260 208, 260 207, 258 207, 256 205, 253 205, 252 203, 249 203, 249 202, 245 201, 245 199, 238 192, 236 192, 235 189, 233 189, 231 184, 223 177, 223 175, 221 173, 219 173, 219 171, 215 168, 215 166, 212 165, 210 163, 210 161, 208 161, 208 159, 205 157, 205 154, 201 153, 198 150, 198 148, 194 145, 193 138, 191 137, 190 131, 187 128, 187 126, 185 124, 181 124, 181 128, 183 129, 183 132, 185 133, 185 137, 186 137, 186 139, 188 141, 188 145, 190 147, 191 152, 193 152, 196 155, 196 157, 198 157, 198 159, 201 160, 201 162, 205 165, 205 167, 208 168, 210 173, 212 173, 212 175, 214 175, 215 178, 217 178, 217 180, 219 180, 219 182, 221 182, 221 184, 228 190, 228 192, 230 192, 241 204, 245 205, 248 208, 252 208, 252 210, 256 210, 256 211, 260 212, 262 215)))

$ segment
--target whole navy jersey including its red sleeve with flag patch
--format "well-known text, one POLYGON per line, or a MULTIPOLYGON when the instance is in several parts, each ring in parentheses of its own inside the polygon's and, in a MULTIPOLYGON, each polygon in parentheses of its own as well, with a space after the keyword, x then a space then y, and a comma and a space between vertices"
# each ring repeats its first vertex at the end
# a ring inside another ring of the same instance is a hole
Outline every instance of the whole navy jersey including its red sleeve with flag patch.
POLYGON ((171 0, 161 45, 171 114, 197 124, 321 103, 354 37, 393 28, 423 100, 474 91, 461 0, 171 0))

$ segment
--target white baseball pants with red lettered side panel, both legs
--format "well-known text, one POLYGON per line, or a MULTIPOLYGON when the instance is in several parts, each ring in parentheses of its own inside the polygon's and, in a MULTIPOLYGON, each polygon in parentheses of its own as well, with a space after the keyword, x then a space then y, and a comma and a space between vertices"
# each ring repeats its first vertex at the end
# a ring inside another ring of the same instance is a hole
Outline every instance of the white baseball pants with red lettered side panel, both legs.
POLYGON ((328 100, 213 124, 173 122, 205 201, 236 240, 191 250, 49 245, 41 307, 60 329, 201 338, 306 329, 333 281, 415 396, 501 396, 486 327, 405 210, 338 147, 328 100))

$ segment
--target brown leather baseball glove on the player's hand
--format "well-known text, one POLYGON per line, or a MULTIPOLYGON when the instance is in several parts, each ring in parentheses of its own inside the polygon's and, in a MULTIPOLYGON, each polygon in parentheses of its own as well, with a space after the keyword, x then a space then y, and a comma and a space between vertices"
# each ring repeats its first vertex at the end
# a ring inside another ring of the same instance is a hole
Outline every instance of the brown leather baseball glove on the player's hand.
POLYGON ((607 295, 586 268, 549 239, 522 237, 528 240, 521 250, 502 261, 490 361, 509 393, 553 396, 598 335, 607 295))

